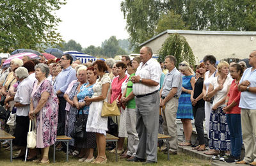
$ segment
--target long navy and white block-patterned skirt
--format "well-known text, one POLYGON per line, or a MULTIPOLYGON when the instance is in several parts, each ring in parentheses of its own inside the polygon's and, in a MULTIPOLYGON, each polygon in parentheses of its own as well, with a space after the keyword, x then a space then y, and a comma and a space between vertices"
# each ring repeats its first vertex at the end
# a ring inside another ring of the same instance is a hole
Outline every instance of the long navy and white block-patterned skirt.
POLYGON ((219 151, 229 151, 230 146, 227 116, 222 107, 218 107, 217 110, 212 110, 210 116, 209 147, 219 151))

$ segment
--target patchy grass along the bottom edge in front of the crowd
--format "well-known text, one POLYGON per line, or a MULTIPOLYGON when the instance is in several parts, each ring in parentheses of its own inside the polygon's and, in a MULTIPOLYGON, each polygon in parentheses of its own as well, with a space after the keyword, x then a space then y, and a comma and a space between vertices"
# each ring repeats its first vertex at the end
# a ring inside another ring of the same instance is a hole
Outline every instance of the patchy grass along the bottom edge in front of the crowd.
MULTIPOLYGON (((13 151, 15 154, 16 152, 13 151)), ((86 163, 81 163, 78 162, 78 158, 69 156, 68 162, 66 162, 66 155, 63 151, 56 151, 56 163, 53 163, 52 159, 53 155, 53 149, 51 147, 49 157, 50 157, 50 164, 49 165, 95 165, 95 164, 86 164, 86 163)), ((108 163, 105 165, 141 165, 141 163, 131 163, 127 162, 124 159, 118 158, 118 162, 115 162, 115 155, 112 153, 106 152, 106 155, 108 157, 108 163)), ((170 161, 167 160, 167 155, 164 153, 157 153, 157 164, 154 165, 211 165, 211 162, 209 160, 199 160, 198 158, 191 157, 188 155, 184 155, 184 153, 179 153, 179 155, 170 155, 170 161)), ((38 165, 33 162, 27 162, 24 163, 22 160, 13 160, 12 163, 10 163, 10 151, 5 151, 4 148, 1 148, 1 153, 0 153, 0 165, 38 165)))

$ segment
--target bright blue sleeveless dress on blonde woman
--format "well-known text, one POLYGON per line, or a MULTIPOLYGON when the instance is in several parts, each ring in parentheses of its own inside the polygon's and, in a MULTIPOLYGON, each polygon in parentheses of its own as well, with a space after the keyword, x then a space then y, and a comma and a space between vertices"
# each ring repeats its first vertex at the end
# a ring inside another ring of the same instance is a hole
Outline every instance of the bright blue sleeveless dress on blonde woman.
MULTIPOLYGON (((191 78, 194 77, 193 75, 182 76, 182 87, 185 89, 192 90, 192 86, 190 83, 191 78)), ((190 100, 190 94, 183 92, 180 94, 179 98, 179 107, 177 111, 177 119, 193 119, 193 108, 192 103, 190 100)))

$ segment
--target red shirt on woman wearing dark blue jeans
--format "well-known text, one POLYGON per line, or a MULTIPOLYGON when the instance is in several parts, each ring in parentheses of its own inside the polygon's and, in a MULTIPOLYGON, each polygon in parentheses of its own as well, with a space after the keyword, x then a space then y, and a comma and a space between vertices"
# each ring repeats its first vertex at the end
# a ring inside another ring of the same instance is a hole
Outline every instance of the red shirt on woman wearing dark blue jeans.
POLYGON ((230 105, 233 101, 235 101, 237 104, 235 107, 230 109, 230 111, 226 112, 226 114, 240 114, 241 109, 238 107, 238 105, 239 105, 239 101, 240 101, 241 92, 238 91, 238 87, 237 87, 235 79, 231 83, 231 86, 230 86, 227 96, 229 97, 228 105, 230 105))

